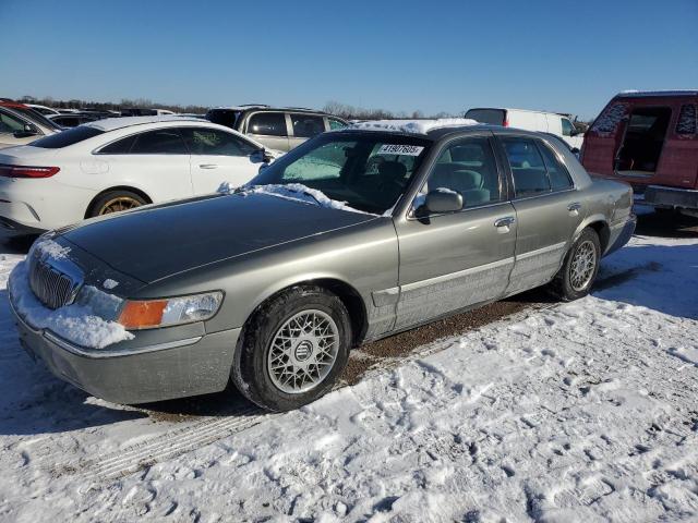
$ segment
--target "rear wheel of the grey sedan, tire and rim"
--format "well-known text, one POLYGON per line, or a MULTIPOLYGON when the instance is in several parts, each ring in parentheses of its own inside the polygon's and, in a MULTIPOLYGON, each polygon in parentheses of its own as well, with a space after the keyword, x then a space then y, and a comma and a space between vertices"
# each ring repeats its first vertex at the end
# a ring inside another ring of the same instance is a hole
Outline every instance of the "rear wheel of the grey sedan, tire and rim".
POLYGON ((593 229, 587 228, 573 244, 559 272, 551 282, 550 288, 553 294, 565 302, 589 294, 599 273, 600 258, 599 234, 593 229))

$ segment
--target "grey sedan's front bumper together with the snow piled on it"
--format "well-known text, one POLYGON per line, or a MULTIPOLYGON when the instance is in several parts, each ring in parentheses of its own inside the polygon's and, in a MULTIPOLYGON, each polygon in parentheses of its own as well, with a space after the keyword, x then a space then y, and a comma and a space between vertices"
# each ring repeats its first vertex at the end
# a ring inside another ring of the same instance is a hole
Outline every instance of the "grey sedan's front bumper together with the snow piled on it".
POLYGON ((228 385, 240 329, 206 333, 202 323, 194 323, 133 335, 82 305, 44 307, 26 272, 20 263, 11 275, 10 309, 23 348, 56 377, 127 404, 218 392, 228 385), (75 342, 91 338, 109 342, 100 348, 75 342))

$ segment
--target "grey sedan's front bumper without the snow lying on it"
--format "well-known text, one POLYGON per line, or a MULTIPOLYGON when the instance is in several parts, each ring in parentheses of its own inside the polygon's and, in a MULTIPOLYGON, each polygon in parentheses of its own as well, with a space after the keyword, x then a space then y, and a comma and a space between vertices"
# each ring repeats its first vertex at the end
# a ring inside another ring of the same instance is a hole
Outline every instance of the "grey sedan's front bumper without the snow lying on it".
POLYGON ((86 349, 29 326, 12 306, 20 341, 53 375, 115 403, 147 403, 224 390, 241 329, 133 346, 86 349))

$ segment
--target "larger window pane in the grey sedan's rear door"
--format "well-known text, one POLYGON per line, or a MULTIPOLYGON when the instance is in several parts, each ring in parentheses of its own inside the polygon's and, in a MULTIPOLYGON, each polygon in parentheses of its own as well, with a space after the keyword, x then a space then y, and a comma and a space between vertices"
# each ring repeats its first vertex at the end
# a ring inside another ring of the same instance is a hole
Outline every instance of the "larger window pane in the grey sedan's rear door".
POLYGON ((530 138, 503 137, 501 139, 512 167, 516 197, 549 193, 550 180, 535 143, 530 138))

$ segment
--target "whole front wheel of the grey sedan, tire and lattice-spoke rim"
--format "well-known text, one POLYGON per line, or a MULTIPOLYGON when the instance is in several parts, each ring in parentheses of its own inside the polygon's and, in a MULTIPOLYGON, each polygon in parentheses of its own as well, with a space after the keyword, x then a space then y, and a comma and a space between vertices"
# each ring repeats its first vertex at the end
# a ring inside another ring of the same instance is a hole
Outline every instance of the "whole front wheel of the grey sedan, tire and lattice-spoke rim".
POLYGON ((298 409, 332 388, 350 344, 341 301, 318 287, 296 287, 269 300, 245 325, 231 378, 264 409, 298 409))

